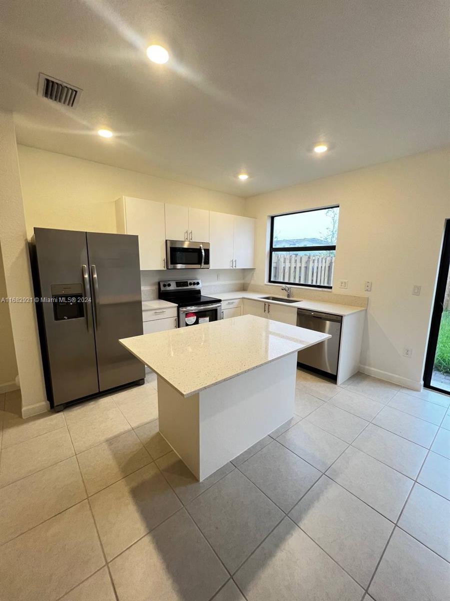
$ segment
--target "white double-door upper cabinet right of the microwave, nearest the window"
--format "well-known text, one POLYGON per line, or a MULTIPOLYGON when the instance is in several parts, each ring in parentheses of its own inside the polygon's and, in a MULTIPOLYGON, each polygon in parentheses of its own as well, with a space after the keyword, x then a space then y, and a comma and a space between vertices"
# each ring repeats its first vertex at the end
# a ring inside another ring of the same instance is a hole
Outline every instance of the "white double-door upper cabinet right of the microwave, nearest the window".
POLYGON ((251 217, 209 213, 211 269, 254 267, 255 220, 251 217))

